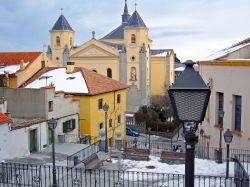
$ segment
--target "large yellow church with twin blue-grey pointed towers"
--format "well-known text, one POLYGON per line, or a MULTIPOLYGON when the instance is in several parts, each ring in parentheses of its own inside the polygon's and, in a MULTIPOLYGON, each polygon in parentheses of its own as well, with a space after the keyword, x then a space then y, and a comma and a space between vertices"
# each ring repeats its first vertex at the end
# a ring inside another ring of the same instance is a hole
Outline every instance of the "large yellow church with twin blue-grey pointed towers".
POLYGON ((101 39, 74 46, 75 32, 61 15, 50 30, 51 43, 47 55, 57 64, 67 61, 129 85, 127 112, 134 113, 150 104, 152 96, 164 96, 165 88, 174 81, 172 49, 152 49, 149 28, 135 10, 130 16, 125 1, 122 23, 101 39))

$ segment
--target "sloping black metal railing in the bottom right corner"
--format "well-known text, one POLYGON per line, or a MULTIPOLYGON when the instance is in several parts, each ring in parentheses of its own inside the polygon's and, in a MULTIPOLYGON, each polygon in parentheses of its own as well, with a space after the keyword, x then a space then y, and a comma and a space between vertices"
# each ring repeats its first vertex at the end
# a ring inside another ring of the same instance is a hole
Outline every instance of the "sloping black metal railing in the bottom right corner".
POLYGON ((243 179, 243 180, 235 180, 236 187, 249 187, 249 173, 248 173, 248 165, 250 163, 250 155, 235 155, 234 160, 234 177, 235 179, 243 179))

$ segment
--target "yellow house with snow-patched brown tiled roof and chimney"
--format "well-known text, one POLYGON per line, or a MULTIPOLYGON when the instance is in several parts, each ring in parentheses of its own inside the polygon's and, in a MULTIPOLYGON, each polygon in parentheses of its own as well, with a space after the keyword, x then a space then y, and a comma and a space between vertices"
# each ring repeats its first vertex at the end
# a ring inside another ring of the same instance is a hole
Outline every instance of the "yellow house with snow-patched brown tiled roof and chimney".
MULTIPOLYGON (((97 140, 100 129, 107 122, 108 138, 115 138, 119 130, 124 138, 126 89, 127 85, 86 68, 75 68, 69 62, 67 68, 44 68, 33 76, 26 88, 46 86, 44 77, 49 77, 48 85, 57 92, 65 92, 80 102, 80 135, 97 140), (109 105, 105 119, 104 104, 109 105)), ((63 105, 62 105, 63 107, 63 105)), ((106 128, 105 128, 106 129, 106 128)))

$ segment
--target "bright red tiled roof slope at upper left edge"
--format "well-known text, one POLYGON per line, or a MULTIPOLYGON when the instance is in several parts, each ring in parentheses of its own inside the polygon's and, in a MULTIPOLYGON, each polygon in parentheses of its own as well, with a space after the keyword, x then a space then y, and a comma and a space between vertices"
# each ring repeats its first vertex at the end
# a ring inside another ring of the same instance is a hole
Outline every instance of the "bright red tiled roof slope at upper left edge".
POLYGON ((0 53, 1 65, 17 65, 21 60, 24 62, 33 62, 36 60, 42 52, 4 52, 0 53))

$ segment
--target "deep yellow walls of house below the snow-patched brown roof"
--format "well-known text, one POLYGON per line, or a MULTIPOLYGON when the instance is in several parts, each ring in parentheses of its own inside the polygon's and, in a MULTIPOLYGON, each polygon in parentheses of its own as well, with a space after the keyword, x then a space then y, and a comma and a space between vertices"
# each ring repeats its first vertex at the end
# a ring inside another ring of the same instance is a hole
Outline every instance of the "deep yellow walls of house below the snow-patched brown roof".
POLYGON ((125 111, 126 111, 126 90, 99 94, 96 96, 74 96, 80 101, 80 134, 89 135, 92 138, 99 137, 99 124, 103 123, 105 128, 105 112, 98 109, 98 100, 103 99, 103 105, 109 105, 107 129, 108 138, 115 138, 116 130, 122 132, 122 139, 125 136, 125 111), (117 104, 117 95, 121 95, 121 103, 117 104), (121 123, 117 123, 117 116, 121 115, 121 123), (112 127, 109 127, 109 119, 112 119, 112 127))

